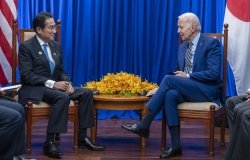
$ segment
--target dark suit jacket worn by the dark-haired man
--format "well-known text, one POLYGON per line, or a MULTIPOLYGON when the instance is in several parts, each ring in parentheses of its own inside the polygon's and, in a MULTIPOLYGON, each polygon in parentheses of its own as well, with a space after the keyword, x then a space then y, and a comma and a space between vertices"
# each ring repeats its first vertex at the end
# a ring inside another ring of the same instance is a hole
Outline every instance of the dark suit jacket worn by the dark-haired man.
POLYGON ((23 105, 28 100, 34 103, 43 98, 45 81, 69 81, 63 71, 62 49, 56 41, 49 43, 52 57, 55 61, 53 73, 50 72, 49 61, 36 36, 22 43, 19 47, 18 60, 22 87, 19 89, 19 102, 23 105))

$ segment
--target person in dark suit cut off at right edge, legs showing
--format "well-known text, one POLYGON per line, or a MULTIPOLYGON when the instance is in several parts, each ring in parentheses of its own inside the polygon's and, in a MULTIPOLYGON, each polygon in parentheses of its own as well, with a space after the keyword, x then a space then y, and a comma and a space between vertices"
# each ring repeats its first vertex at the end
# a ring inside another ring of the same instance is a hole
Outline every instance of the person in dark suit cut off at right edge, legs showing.
POLYGON ((246 95, 226 100, 230 143, 226 160, 247 160, 250 157, 250 90, 246 95))

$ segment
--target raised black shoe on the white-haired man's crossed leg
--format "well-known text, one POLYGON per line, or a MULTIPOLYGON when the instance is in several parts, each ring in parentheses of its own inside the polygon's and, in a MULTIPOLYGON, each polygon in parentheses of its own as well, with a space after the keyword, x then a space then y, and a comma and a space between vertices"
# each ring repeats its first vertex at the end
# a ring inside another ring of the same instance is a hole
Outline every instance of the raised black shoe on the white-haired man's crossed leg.
POLYGON ((149 137, 149 129, 141 129, 141 128, 137 127, 137 124, 133 124, 133 125, 131 125, 131 124, 126 125, 125 124, 125 125, 122 125, 122 128, 126 129, 129 132, 138 134, 139 136, 142 136, 145 138, 149 137))

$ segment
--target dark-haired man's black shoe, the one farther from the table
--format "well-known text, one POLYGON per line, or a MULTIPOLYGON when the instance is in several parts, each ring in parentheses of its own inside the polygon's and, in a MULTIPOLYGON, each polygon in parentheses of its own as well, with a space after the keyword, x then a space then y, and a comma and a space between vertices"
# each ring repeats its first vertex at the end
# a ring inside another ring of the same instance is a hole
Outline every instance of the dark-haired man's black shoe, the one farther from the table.
POLYGON ((62 152, 57 150, 54 142, 44 143, 43 145, 43 153, 52 158, 61 158, 63 155, 62 152))

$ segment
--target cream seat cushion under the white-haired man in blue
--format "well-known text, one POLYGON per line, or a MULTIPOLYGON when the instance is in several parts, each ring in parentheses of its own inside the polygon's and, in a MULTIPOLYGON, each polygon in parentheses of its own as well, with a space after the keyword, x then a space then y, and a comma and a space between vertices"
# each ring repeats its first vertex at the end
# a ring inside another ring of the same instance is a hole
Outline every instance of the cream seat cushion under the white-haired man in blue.
POLYGON ((215 106, 215 110, 221 107, 213 102, 184 102, 178 105, 178 109, 209 111, 211 105, 215 106))

